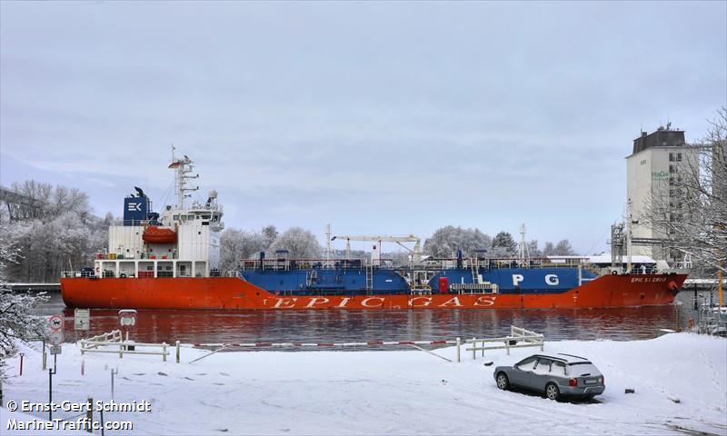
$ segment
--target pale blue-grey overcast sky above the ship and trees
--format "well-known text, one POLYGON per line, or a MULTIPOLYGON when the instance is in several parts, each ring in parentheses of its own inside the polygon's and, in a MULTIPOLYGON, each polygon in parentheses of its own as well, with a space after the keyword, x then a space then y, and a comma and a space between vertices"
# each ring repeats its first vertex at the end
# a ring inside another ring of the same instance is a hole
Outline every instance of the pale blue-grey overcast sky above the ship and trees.
POLYGON ((594 253, 640 129, 697 139, 727 104, 727 3, 3 1, 0 61, 5 186, 159 209, 174 143, 228 227, 594 253))

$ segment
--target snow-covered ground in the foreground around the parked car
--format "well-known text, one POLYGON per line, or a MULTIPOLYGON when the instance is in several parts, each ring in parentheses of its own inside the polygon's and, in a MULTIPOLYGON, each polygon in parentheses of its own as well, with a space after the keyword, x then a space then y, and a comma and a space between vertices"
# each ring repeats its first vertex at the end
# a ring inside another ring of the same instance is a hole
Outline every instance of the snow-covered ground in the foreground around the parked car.
MULTIPOLYGON (((40 354, 24 351, 24 375, 5 384, 5 402, 47 401, 40 354)), ((601 369, 606 391, 591 403, 497 390, 494 366, 533 352, 497 350, 484 358, 478 352, 474 361, 463 352, 460 363, 415 350, 218 352, 189 363, 207 352, 183 348, 182 363, 174 356, 163 363, 159 356, 86 354, 82 376, 79 350, 66 344, 54 400, 110 400, 110 370, 118 367, 115 401, 151 401, 152 411, 105 413, 105 421, 134 423, 133 431, 106 434, 727 434, 724 339, 679 333, 650 341, 546 342, 545 352, 587 356, 601 369)), ((454 360, 455 348, 436 353, 454 360)), ((11 374, 17 363, 10 362, 11 374)), ((0 433, 42 434, 7 431, 16 415, 0 413, 0 433)))

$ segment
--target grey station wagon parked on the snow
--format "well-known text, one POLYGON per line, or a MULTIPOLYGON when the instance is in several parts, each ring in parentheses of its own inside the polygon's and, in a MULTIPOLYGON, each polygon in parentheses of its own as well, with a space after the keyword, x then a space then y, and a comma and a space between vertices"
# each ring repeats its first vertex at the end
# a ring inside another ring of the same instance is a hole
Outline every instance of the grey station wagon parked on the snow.
POLYGON ((513 366, 496 367, 493 376, 500 389, 538 391, 551 400, 590 400, 606 389, 598 368, 588 359, 572 354, 533 354, 513 366))

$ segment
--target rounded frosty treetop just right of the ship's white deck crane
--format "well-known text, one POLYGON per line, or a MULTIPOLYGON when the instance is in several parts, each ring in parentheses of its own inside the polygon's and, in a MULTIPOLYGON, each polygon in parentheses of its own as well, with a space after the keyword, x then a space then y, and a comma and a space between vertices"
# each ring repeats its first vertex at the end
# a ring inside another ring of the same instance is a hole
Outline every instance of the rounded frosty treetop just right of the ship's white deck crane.
POLYGON ((473 257, 477 250, 490 250, 492 238, 480 229, 463 229, 448 225, 437 229, 424 241, 423 252, 433 257, 450 257, 462 250, 464 257, 473 257))

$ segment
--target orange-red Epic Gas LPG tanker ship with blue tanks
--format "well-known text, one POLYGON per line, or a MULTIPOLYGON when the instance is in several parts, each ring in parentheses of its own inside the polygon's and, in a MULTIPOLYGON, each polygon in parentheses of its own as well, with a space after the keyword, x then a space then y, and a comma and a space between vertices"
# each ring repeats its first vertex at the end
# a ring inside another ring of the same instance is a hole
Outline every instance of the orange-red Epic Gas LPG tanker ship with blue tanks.
MULTIPOLYGON (((417 238, 369 237, 365 259, 292 259, 285 251, 240 260, 221 271, 223 207, 211 191, 204 203, 185 200, 194 164, 174 157, 177 203, 154 213, 142 189, 124 198, 124 220, 109 227, 108 248, 93 267, 63 272, 68 307, 199 310, 550 309, 661 305, 673 302, 687 274, 601 268, 587 258, 425 258, 417 238), (417 240, 411 258, 380 256, 383 241, 417 240)), ((327 236, 330 245, 330 233, 327 236)))

